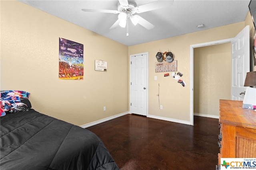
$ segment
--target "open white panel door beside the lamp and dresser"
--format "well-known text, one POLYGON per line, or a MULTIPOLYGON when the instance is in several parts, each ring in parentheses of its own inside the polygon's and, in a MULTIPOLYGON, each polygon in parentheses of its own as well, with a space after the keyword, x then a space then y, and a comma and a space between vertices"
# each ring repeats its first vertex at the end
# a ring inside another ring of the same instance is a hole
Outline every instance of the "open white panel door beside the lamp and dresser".
POLYGON ((231 100, 244 100, 247 72, 250 72, 249 25, 231 40, 231 100))

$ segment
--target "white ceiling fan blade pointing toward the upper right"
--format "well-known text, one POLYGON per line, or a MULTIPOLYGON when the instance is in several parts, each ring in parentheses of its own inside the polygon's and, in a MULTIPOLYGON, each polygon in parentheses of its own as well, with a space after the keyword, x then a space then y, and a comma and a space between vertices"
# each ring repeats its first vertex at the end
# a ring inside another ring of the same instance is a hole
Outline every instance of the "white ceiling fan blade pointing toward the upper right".
POLYGON ((150 2, 148 4, 137 6, 134 8, 134 10, 136 11, 136 13, 142 13, 142 12, 157 10, 160 8, 170 7, 172 6, 172 4, 173 4, 173 0, 157 0, 154 2, 150 2))

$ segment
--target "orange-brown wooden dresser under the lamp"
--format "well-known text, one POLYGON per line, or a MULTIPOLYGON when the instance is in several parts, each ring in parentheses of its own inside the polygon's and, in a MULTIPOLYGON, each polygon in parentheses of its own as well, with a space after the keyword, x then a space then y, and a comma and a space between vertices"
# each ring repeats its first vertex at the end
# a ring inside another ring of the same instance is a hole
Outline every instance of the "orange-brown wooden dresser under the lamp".
POLYGON ((256 158, 256 111, 243 109, 242 101, 220 100, 219 125, 219 165, 220 158, 256 158))

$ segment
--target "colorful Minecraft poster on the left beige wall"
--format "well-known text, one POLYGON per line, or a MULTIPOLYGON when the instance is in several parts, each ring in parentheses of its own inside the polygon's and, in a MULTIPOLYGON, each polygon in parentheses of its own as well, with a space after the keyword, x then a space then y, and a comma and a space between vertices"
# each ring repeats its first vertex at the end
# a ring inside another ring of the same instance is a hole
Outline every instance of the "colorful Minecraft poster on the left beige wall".
POLYGON ((83 80, 84 45, 59 39, 59 79, 83 80))

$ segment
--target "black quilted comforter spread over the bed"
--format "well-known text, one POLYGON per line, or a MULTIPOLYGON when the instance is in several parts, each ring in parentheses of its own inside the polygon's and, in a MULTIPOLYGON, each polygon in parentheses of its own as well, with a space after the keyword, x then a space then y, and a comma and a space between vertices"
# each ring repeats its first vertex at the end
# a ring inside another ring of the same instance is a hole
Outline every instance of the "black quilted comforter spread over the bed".
POLYGON ((118 170, 102 141, 30 109, 0 118, 1 170, 118 170))

